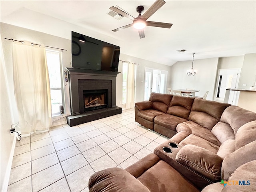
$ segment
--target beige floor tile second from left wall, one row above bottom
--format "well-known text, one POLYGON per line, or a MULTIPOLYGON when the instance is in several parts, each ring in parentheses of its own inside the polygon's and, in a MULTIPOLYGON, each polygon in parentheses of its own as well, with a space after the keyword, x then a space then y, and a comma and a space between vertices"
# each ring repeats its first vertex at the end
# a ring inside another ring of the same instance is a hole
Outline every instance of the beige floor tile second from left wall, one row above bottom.
POLYGON ((32 174, 35 174, 39 171, 42 171, 50 166, 53 166, 55 164, 58 164, 58 156, 56 153, 52 153, 50 155, 46 155, 44 157, 41 157, 39 159, 36 159, 31 162, 32 164, 32 174))

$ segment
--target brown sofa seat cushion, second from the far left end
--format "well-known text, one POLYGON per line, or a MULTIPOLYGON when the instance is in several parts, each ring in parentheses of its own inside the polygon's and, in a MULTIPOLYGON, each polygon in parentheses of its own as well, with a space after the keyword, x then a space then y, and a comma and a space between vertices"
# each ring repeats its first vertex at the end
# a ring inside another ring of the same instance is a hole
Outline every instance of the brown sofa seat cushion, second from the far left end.
POLYGON ((161 125, 163 127, 166 127, 174 131, 176 131, 176 126, 179 123, 182 123, 184 121, 187 121, 187 120, 184 118, 177 117, 174 115, 169 115, 169 114, 159 115, 154 118, 155 124, 161 125))

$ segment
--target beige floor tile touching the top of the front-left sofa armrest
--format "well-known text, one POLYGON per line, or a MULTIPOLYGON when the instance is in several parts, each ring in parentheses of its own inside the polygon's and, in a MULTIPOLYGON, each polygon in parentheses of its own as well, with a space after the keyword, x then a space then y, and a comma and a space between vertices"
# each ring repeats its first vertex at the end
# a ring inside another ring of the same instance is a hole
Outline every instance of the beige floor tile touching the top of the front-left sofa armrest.
POLYGON ((101 158, 95 160, 94 162, 91 162, 90 165, 92 166, 93 170, 97 172, 107 168, 115 167, 118 164, 116 164, 116 162, 114 162, 114 160, 112 160, 110 156, 104 155, 101 158))

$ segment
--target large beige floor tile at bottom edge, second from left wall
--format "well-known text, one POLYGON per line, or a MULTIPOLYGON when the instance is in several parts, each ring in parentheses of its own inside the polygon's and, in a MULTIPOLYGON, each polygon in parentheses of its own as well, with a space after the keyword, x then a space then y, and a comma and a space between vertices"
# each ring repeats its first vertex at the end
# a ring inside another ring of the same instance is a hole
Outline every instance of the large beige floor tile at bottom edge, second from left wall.
POLYGON ((32 188, 33 191, 39 191, 50 184, 64 178, 64 173, 60 164, 51 166, 45 170, 42 170, 32 175, 32 188))

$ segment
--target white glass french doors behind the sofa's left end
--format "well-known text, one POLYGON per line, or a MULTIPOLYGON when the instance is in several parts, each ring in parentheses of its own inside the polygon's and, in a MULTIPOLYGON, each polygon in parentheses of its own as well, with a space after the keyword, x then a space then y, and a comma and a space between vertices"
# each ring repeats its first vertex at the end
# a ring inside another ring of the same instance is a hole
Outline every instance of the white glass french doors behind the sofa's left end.
POLYGON ((151 92, 165 93, 167 71, 145 68, 144 100, 148 100, 151 92))

